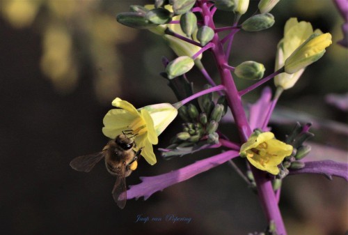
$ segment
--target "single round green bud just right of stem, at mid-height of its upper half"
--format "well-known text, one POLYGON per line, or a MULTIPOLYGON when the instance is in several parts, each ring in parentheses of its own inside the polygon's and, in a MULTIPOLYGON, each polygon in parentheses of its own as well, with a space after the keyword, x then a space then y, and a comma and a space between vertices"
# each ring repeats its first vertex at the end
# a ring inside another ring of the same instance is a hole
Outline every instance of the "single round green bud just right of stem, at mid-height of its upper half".
POLYGON ((245 61, 235 68, 235 74, 242 79, 258 80, 263 77, 264 66, 255 61, 245 61))

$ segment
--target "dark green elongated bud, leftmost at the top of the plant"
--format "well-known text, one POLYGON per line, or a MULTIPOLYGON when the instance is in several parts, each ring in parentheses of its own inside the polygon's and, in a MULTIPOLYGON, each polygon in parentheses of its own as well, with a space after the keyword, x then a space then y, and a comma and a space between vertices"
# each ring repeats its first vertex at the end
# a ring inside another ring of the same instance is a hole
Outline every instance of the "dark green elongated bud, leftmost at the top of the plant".
POLYGON ((136 29, 151 29, 157 26, 146 20, 141 13, 120 13, 116 16, 116 20, 120 24, 136 29))

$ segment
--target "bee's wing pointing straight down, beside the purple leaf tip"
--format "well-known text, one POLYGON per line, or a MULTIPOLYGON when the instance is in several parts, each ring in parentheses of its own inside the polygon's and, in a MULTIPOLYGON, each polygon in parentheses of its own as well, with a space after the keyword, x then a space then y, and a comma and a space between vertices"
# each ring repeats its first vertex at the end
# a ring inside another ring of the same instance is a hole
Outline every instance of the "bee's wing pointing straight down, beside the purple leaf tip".
POLYGON ((127 186, 125 178, 125 166, 121 167, 121 172, 116 178, 112 190, 112 197, 120 209, 124 209, 127 202, 127 186))

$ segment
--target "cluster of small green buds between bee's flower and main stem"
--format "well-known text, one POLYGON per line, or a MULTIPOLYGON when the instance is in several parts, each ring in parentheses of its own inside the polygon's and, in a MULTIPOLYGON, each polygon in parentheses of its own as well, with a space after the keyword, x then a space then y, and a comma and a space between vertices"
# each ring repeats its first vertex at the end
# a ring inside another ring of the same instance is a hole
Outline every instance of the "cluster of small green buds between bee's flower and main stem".
MULTIPOLYGON (((205 89, 209 87, 206 85, 205 89)), ((182 132, 177 133, 172 139, 171 146, 161 149, 162 156, 166 158, 167 156, 184 155, 192 153, 196 147, 219 143, 219 134, 216 131, 219 121, 227 112, 228 105, 225 96, 220 96, 214 102, 212 93, 208 93, 200 97, 199 106, 190 103, 178 109, 178 114, 184 121, 182 132), (184 148, 187 151, 184 151, 184 148)))

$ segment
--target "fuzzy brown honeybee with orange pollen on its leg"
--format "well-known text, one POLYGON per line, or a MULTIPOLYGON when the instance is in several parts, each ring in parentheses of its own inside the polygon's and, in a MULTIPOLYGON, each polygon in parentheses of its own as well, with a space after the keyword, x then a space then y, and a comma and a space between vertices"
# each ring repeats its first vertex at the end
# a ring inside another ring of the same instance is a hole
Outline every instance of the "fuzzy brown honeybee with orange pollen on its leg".
POLYGON ((125 177, 129 176, 138 166, 137 160, 142 149, 137 152, 133 150, 136 144, 132 137, 134 135, 129 137, 129 132, 127 134, 122 132, 115 139, 111 139, 101 152, 80 156, 70 162, 72 169, 79 172, 90 172, 95 164, 104 158, 106 169, 110 174, 116 176, 112 195, 120 209, 125 208, 127 202, 125 177))

